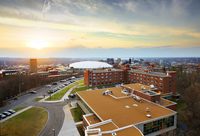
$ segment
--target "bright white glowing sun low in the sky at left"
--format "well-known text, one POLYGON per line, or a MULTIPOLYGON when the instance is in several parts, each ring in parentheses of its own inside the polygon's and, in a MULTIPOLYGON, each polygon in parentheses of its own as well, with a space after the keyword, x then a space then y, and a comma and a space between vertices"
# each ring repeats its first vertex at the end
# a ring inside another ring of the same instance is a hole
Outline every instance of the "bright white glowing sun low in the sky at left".
POLYGON ((41 49, 48 47, 48 42, 46 42, 44 40, 32 40, 32 41, 28 42, 28 47, 30 47, 32 49, 41 50, 41 49))

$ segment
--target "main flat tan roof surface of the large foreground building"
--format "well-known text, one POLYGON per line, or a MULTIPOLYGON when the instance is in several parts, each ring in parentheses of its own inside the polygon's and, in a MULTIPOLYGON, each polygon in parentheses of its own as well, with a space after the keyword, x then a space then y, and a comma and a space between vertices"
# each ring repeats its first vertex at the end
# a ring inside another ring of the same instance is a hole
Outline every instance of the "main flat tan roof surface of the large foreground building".
MULTIPOLYGON (((176 113, 142 98, 142 102, 138 102, 132 97, 115 99, 110 95, 102 95, 107 89, 82 91, 77 94, 101 121, 112 119, 118 127, 137 124, 176 113), (150 111, 151 118, 146 116, 147 108, 150 111)), ((110 88, 110 90, 112 90, 113 94, 117 94, 119 91, 122 91, 122 88, 114 87, 110 88)))

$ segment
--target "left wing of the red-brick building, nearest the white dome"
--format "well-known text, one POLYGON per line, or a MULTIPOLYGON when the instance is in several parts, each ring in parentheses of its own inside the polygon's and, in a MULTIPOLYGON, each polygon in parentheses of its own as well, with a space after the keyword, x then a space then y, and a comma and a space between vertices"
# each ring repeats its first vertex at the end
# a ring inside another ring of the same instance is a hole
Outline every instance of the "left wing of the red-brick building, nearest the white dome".
POLYGON ((121 69, 85 70, 84 83, 88 86, 123 83, 124 76, 124 71, 121 69))

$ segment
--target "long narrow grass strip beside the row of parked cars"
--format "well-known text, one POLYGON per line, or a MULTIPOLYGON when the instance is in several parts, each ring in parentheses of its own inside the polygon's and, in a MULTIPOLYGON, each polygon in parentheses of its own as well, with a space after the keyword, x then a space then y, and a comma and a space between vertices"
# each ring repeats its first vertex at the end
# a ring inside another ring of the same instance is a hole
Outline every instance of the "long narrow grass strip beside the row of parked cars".
POLYGON ((81 82, 83 82, 83 80, 78 80, 70 85, 68 85, 67 87, 65 87, 64 89, 62 89, 61 91, 59 91, 58 93, 53 94, 52 96, 50 96, 49 98, 47 98, 47 101, 55 101, 55 100, 60 100, 65 93, 72 87, 74 87, 75 85, 80 84, 81 82))

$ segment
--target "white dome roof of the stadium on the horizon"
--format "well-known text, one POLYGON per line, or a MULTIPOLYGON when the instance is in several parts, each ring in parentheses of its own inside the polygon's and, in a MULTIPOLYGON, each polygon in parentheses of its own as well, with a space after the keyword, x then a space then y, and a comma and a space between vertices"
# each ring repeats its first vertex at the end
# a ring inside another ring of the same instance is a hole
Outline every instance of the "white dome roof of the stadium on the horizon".
POLYGON ((75 62, 69 65, 69 67, 78 68, 78 69, 95 69, 95 68, 111 68, 112 65, 105 63, 105 62, 99 62, 99 61, 81 61, 81 62, 75 62))

